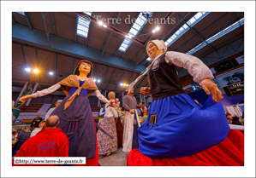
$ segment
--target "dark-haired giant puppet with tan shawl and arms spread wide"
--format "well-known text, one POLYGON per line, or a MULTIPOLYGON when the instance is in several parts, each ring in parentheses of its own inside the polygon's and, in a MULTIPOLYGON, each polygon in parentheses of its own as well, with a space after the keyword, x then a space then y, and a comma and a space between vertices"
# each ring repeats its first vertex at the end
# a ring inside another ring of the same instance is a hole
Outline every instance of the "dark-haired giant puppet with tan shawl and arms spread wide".
POLYGON ((88 96, 95 93, 99 100, 106 103, 109 100, 100 94, 92 81, 90 61, 80 60, 74 75, 69 75, 68 78, 64 78, 49 89, 23 96, 20 100, 24 102, 31 98, 48 95, 60 88, 67 96, 51 115, 59 117, 60 124, 57 127, 63 129, 63 133, 68 136, 68 156, 86 157, 86 165, 98 166, 98 143, 88 96))

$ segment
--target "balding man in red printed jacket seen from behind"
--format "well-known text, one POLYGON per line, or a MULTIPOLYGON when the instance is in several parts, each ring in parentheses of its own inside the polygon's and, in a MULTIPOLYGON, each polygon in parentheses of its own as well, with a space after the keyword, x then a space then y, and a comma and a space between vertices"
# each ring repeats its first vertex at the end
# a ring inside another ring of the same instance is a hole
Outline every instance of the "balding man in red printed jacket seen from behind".
MULTIPOLYGON (((15 157, 68 157, 69 141, 63 130, 57 128, 57 115, 51 115, 46 120, 45 129, 34 135, 21 146, 15 157)), ((39 166, 39 164, 14 164, 39 166)), ((51 164, 40 164, 50 166, 51 164)), ((57 164, 53 164, 57 165, 57 164)))

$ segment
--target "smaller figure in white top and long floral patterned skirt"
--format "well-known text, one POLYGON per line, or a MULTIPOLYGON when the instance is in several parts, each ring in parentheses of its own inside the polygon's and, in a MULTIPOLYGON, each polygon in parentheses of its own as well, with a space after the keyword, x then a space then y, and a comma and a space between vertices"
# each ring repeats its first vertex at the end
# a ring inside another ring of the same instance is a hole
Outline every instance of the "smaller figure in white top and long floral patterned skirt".
MULTIPOLYGON (((110 92, 108 97, 110 102, 115 99, 115 93, 110 92)), ((101 130, 98 130, 97 139, 98 139, 98 154, 108 156, 111 152, 115 152, 117 150, 117 134, 116 134, 116 123, 115 118, 118 117, 116 109, 114 107, 116 103, 112 102, 106 104, 105 106, 105 114, 104 119, 100 123, 100 127, 104 129, 109 135, 114 138, 111 139, 108 135, 105 135, 101 130)))

